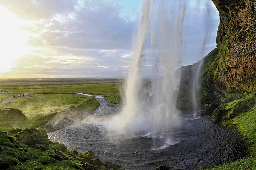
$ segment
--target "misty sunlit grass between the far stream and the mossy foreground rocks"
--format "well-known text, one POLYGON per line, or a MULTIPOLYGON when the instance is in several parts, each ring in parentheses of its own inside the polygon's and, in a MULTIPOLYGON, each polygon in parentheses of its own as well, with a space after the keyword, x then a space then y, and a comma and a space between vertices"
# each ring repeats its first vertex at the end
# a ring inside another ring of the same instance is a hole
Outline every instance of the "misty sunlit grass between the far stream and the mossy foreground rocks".
MULTIPOLYGON (((43 94, 34 95, 30 98, 14 98, 13 101, 0 103, 0 108, 17 108, 21 110, 27 120, 25 121, 0 121, 2 128, 24 128, 29 125, 40 126, 46 123, 57 112, 70 111, 72 108, 79 110, 95 110, 99 103, 95 97, 84 97, 78 95, 56 95, 56 94, 43 94)), ((0 118, 1 120, 1 118, 0 118)))

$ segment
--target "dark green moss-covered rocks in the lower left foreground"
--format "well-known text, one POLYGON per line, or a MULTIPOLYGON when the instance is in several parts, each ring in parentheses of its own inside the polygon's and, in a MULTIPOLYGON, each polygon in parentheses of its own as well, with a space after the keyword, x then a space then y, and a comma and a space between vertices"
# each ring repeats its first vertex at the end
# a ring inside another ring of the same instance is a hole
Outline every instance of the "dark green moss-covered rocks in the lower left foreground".
MULTIPOLYGON (((10 129, 9 131, 14 132, 15 130, 17 129, 10 129)), ((44 129, 29 127, 18 133, 20 140, 12 136, 14 134, 0 129, 0 169, 87 170, 92 168, 110 170, 113 168, 117 170, 116 167, 119 167, 115 163, 108 163, 111 168, 103 166, 102 161, 92 151, 85 154, 77 153, 76 155, 67 150, 65 152, 58 151, 56 147, 59 150, 66 149, 66 146, 59 142, 48 142, 49 147, 47 148, 48 145, 41 144, 45 142, 45 138, 47 139, 47 133, 45 134, 44 129), (39 141, 32 142, 34 144, 23 141, 26 138, 34 138, 36 135, 39 141), (25 145, 25 143, 29 145, 25 145), (59 146, 61 147, 59 148, 59 146), (46 148, 42 149, 41 147, 46 148)), ((73 149, 72 151, 75 153, 76 150, 73 149)))

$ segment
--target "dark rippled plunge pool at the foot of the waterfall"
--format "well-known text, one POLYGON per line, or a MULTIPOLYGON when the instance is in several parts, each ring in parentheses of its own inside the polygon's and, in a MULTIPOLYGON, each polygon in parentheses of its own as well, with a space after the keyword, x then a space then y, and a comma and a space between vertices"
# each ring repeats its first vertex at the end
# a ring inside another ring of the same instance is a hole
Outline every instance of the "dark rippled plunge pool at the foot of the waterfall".
POLYGON ((94 151, 101 161, 111 161, 126 170, 155 169, 165 164, 170 169, 211 167, 237 157, 237 135, 211 123, 211 117, 183 113, 182 125, 174 132, 141 132, 133 137, 109 132, 102 122, 120 112, 116 104, 101 103, 94 117, 84 123, 49 133, 51 141, 64 143, 78 152, 94 151), (166 136, 171 136, 166 141, 166 136), (92 146, 90 146, 92 144, 92 146))

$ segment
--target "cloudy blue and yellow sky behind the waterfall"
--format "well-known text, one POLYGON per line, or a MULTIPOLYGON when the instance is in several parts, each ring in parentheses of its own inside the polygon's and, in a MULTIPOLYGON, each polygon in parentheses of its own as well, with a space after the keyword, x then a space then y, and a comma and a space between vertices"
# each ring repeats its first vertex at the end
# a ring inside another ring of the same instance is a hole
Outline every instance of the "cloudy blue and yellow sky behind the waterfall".
MULTIPOLYGON (((1 0, 0 78, 126 76, 143 4, 1 0)), ((210 0, 186 0, 181 65, 196 63, 216 48, 218 23, 219 13, 210 0)), ((150 42, 144 49, 152 50, 150 42)))

